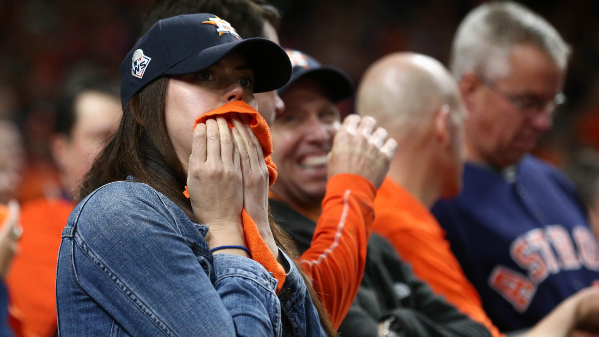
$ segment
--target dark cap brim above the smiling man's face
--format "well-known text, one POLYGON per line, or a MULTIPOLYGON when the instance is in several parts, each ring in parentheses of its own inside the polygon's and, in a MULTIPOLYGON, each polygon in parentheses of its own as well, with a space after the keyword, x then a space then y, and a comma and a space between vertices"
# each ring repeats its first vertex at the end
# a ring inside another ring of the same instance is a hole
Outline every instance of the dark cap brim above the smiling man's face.
POLYGON ((316 69, 299 71, 292 75, 289 82, 279 89, 279 95, 283 95, 293 83, 304 77, 311 77, 321 83, 332 101, 338 102, 349 98, 353 94, 352 80, 350 80, 343 71, 335 67, 320 67, 316 69))

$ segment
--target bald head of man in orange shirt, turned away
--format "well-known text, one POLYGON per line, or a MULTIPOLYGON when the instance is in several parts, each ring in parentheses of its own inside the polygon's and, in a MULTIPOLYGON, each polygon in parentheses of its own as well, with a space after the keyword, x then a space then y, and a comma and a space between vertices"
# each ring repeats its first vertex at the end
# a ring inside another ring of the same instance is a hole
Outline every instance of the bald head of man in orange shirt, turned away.
POLYGON ((423 166, 443 167, 441 194, 456 193, 465 108, 457 83, 440 62, 415 53, 393 53, 374 62, 359 85, 356 111, 385 125, 405 150, 395 156, 398 161, 418 155, 423 166))

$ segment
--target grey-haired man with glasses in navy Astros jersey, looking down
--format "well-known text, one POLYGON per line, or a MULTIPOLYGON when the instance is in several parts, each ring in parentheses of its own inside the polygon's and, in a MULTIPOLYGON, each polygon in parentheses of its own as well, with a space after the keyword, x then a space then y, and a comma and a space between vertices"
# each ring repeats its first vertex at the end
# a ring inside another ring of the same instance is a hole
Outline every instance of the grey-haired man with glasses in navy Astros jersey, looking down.
POLYGON ((529 152, 562 103, 570 47, 515 2, 471 11, 452 46, 468 110, 462 193, 432 209, 486 313, 533 326, 599 278, 599 249, 573 185, 529 152))

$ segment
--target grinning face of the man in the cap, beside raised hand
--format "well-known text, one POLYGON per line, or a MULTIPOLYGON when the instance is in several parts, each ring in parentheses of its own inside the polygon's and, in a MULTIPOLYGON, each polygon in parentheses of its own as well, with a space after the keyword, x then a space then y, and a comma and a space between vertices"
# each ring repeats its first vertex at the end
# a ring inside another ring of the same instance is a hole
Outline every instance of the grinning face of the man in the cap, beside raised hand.
POLYGON ((340 112, 325 88, 309 76, 282 95, 285 111, 271 126, 279 175, 272 190, 296 203, 320 200, 326 191, 326 157, 340 128, 340 112))

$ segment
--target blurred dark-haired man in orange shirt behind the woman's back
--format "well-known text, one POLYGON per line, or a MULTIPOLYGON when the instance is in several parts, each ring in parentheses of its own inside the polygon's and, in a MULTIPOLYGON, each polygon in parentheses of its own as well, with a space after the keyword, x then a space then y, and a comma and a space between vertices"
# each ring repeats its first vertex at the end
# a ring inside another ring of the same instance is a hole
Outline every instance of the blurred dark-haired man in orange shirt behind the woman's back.
POLYGON ((7 276, 25 336, 56 333, 54 285, 60 234, 74 207, 78 184, 119 124, 119 88, 96 71, 77 71, 66 80, 55 109, 56 130, 50 146, 62 195, 23 204, 21 222, 27 234, 7 276))

